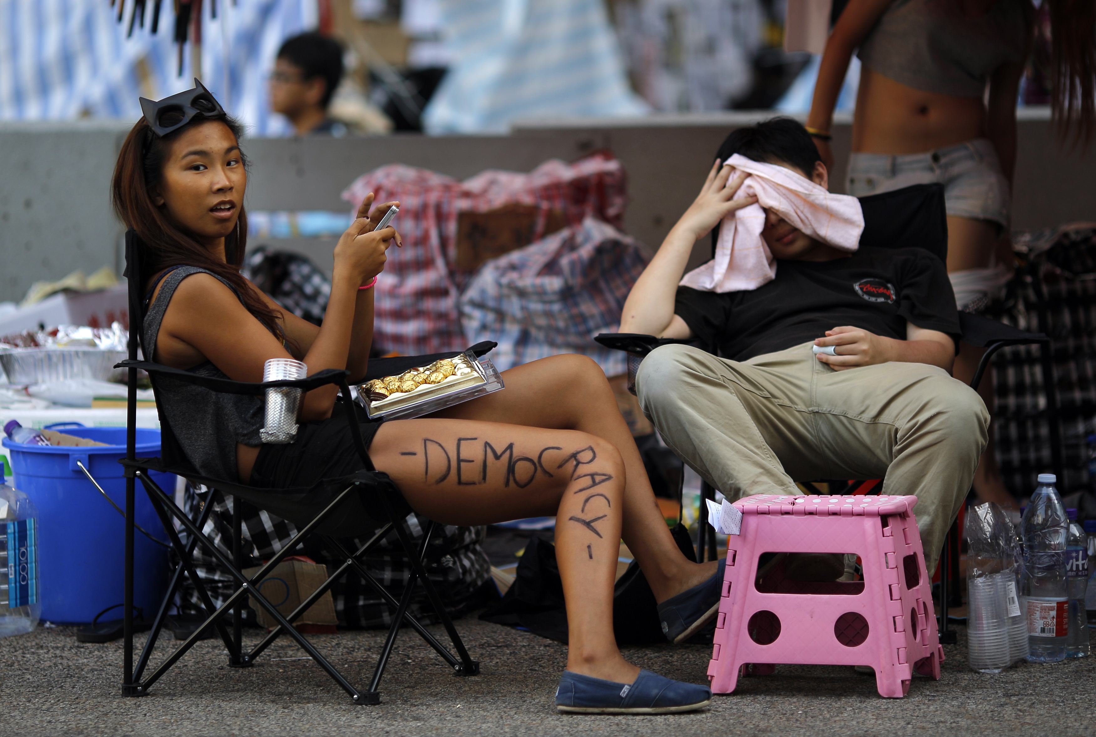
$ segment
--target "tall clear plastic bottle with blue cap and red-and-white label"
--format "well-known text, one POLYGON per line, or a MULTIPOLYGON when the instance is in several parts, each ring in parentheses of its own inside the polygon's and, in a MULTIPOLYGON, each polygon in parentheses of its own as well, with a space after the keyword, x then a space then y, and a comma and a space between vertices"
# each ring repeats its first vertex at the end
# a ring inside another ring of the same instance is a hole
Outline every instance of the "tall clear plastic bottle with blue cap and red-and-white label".
POLYGON ((1069 520, 1052 473, 1040 473, 1020 529, 1024 533, 1023 595, 1028 622, 1028 660, 1065 659, 1069 590, 1065 583, 1065 536, 1069 520))

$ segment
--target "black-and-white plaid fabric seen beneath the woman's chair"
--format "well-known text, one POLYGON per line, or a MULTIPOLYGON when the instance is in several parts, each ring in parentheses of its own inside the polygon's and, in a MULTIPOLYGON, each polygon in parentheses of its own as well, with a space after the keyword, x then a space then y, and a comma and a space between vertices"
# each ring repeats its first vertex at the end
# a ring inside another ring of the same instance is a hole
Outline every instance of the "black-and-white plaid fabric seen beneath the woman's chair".
MULTIPOLYGON (((191 516, 191 519, 196 518, 196 510, 199 509, 199 504, 204 498, 208 497, 204 493, 199 497, 190 485, 186 486, 183 510, 191 516)), ((226 500, 218 495, 217 503, 213 511, 209 513, 209 521, 202 530, 229 556, 231 556, 232 550, 232 506, 231 500, 226 500)), ((422 541, 423 533, 419 518, 415 515, 409 515, 401 523, 418 545, 422 541)), ((254 558, 253 562, 270 558, 297 533, 297 528, 292 522, 253 507, 251 507, 250 514, 244 517, 242 528, 244 556, 254 558)), ((434 581, 446 609, 454 617, 460 617, 469 609, 483 603, 480 596, 481 586, 491 575, 491 564, 480 548, 486 531, 484 527, 444 526, 436 529, 431 539, 426 552, 426 573, 434 581)), ((183 531, 180 537, 185 544, 190 536, 183 531)), ((342 541, 351 552, 356 551, 363 542, 364 540, 342 541)), ((331 553, 309 543, 306 543, 304 554, 317 563, 327 564, 329 574, 343 563, 342 558, 333 560, 331 553)), ((202 578, 202 583, 209 591, 214 606, 219 607, 236 590, 236 579, 201 544, 195 548, 192 560, 198 577, 202 578)), ((396 534, 389 534, 369 555, 361 560, 374 578, 388 589, 390 595, 399 599, 407 586, 411 565, 403 554, 403 549, 396 534)), ((172 561, 173 563, 178 561, 174 551, 172 551, 172 561)), ((244 565, 248 563, 246 562, 244 565)), ((357 574, 350 573, 341 576, 332 585, 331 594, 334 597, 335 613, 339 617, 340 625, 362 629, 387 627, 391 624, 392 611, 388 604, 374 594, 358 578, 357 574)), ((175 603, 180 611, 185 614, 204 613, 197 589, 186 576, 182 579, 175 603)), ((432 610, 425 607, 426 603, 425 592, 420 588, 411 600, 409 609, 423 622, 436 621, 432 610)), ((244 608, 243 612, 246 621, 255 622, 253 610, 244 608)))

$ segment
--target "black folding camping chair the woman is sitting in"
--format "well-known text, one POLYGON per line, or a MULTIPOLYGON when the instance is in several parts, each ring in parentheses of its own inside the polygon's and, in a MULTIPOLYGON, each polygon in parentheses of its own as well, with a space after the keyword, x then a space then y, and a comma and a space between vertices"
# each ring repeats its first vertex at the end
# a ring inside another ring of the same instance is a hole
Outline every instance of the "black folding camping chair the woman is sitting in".
MULTIPOLYGON (((141 332, 144 309, 141 303, 142 279, 147 275, 141 274, 140 260, 138 257, 138 239, 134 231, 126 233, 126 276, 129 280, 129 357, 117 365, 128 372, 128 402, 127 408, 127 435, 126 435, 126 458, 122 461, 125 467, 126 476, 126 525, 125 525, 125 603, 124 603, 124 630, 125 630, 125 652, 124 672, 122 692, 124 695, 139 696, 148 693, 149 688, 156 683, 168 670, 185 655, 205 633, 215 629, 216 633, 225 643, 228 649, 228 665, 243 668, 254 664, 255 659, 265 650, 271 643, 282 635, 288 635, 342 687, 354 703, 377 704, 380 703, 380 679, 384 676, 385 667, 388 664, 396 636, 402 624, 408 624, 429 644, 442 659, 453 669, 457 676, 475 676, 479 672, 479 664, 469 657, 460 635, 453 624, 453 620, 445 610, 445 607, 434 588, 433 583, 426 575, 423 564, 425 552, 430 544, 434 531, 434 522, 425 526, 425 531, 420 544, 414 545, 410 534, 403 525, 402 519, 410 513, 410 508, 403 500, 399 490, 384 472, 377 471, 369 460, 369 454, 365 448, 358 423, 363 421, 364 414, 356 407, 352 400, 350 387, 346 383, 347 371, 328 369, 319 371, 306 379, 296 381, 277 381, 265 383, 248 383, 203 377, 190 371, 182 371, 170 368, 151 360, 138 360, 137 347, 141 332), (233 394, 263 395, 265 391, 274 387, 293 387, 304 392, 318 389, 320 387, 336 384, 341 392, 341 407, 335 411, 345 413, 347 429, 354 440, 354 446, 362 459, 364 470, 352 475, 340 479, 327 479, 318 482, 312 487, 307 488, 256 488, 247 486, 224 479, 210 479, 198 473, 186 460, 185 454, 172 433, 170 418, 164 416, 162 403, 160 408, 161 429, 161 451, 159 458, 136 458, 135 454, 135 428, 137 411, 137 377, 138 371, 146 371, 152 380, 153 391, 157 381, 171 377, 172 379, 204 387, 215 392, 226 392, 233 394), (171 495, 164 492, 149 475, 149 472, 173 473, 189 480, 192 484, 201 484, 209 490, 209 495, 202 505, 202 509, 195 513, 196 518, 187 516, 175 503, 171 495), (179 557, 168 587, 168 594, 160 606, 156 618, 152 621, 148 641, 134 666, 134 510, 136 496, 136 482, 140 481, 141 486, 148 494, 149 500, 156 509, 164 531, 169 538, 172 550, 179 557), (220 494, 224 497, 232 497, 232 550, 231 554, 224 551, 208 537, 203 534, 203 528, 209 518, 209 513, 215 506, 214 495, 220 494), (241 520, 244 505, 252 505, 259 509, 266 510, 271 515, 281 517, 293 522, 299 532, 286 543, 260 571, 253 576, 247 576, 241 572, 243 565, 243 551, 241 550, 241 520), (377 529, 378 509, 387 521, 377 529), (174 522, 178 522, 186 532, 187 540, 184 542, 175 530, 174 522), (356 537, 363 530, 376 530, 375 533, 356 551, 347 550, 341 539, 356 537), (385 589, 361 563, 370 550, 373 550, 387 536, 397 536, 400 545, 411 565, 411 573, 399 600, 397 600, 387 589, 385 589), (258 589, 256 584, 262 581, 274 567, 282 562, 309 536, 318 536, 320 542, 329 550, 335 560, 342 560, 328 580, 312 592, 288 615, 283 617, 258 589), (191 561, 191 555, 196 545, 203 545, 224 566, 232 578, 236 579, 238 588, 229 596, 220 607, 215 607, 202 578, 197 575, 191 561), (385 602, 395 611, 391 627, 385 644, 380 649, 376 668, 368 689, 359 691, 343 677, 335 667, 321 655, 316 647, 293 626, 304 612, 319 600, 331 587, 335 579, 347 573, 358 575, 367 586, 374 589, 385 602), (205 621, 186 638, 159 667, 151 673, 146 673, 149 666, 150 656, 164 625, 168 611, 172 606, 175 591, 183 579, 189 576, 193 583, 197 595, 203 602, 206 613, 205 621), (449 649, 437 641, 409 611, 408 607, 412 600, 418 585, 422 585, 430 609, 434 612, 452 641, 457 655, 454 656, 449 649), (277 622, 277 626, 270 632, 258 645, 250 650, 244 649, 242 633, 242 609, 246 599, 250 598, 251 606, 262 608, 270 617, 277 622), (226 618, 231 614, 231 627, 226 625, 226 618)), ((472 347, 477 355, 482 355, 494 347, 492 343, 479 344, 472 347)), ((377 360, 370 361, 370 375, 381 376, 385 372, 399 372, 410 366, 419 366, 422 362, 430 362, 436 358, 452 357, 456 353, 439 354, 437 356, 403 357, 400 359, 386 359, 387 364, 377 360)), ((150 356, 148 358, 151 358, 150 356)), ((420 518, 421 519, 421 518, 420 518)))

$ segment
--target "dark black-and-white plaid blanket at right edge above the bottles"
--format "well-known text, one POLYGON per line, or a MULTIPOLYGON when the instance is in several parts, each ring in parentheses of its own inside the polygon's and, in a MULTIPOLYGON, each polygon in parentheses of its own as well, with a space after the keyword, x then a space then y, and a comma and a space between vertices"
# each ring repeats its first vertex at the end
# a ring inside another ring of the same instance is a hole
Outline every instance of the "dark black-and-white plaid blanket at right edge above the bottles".
MULTIPOLYGON (((1066 227, 1014 234, 1025 268, 1006 299, 985 315, 1053 338, 1064 457, 1063 493, 1091 488, 1086 436, 1096 431, 1096 228, 1066 227)), ((1038 346, 1004 348, 994 357, 997 462, 1005 485, 1030 494, 1051 470, 1050 429, 1038 346)))

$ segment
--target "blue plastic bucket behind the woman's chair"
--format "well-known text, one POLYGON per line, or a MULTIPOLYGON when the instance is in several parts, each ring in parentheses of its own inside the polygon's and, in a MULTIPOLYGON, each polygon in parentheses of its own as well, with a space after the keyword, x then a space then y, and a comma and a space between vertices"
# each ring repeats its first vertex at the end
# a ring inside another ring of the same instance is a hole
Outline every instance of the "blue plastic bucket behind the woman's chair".
MULTIPOLYGON (((60 427, 60 426, 57 426, 60 427)), ((3 438, 15 488, 38 508, 42 619, 64 624, 122 619, 125 518, 107 504, 77 467, 81 461, 116 505, 126 508, 126 480, 118 460, 126 454, 124 427, 65 427, 65 433, 106 446, 30 446, 3 438)), ((137 429, 137 457, 160 453, 160 430, 137 429)), ((175 476, 152 473, 168 494, 175 476)), ((137 482, 137 525, 167 542, 168 536, 137 482)), ((135 531, 134 603, 151 620, 168 589, 168 551, 135 531)))

